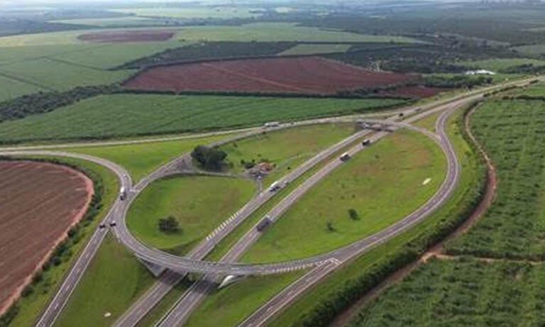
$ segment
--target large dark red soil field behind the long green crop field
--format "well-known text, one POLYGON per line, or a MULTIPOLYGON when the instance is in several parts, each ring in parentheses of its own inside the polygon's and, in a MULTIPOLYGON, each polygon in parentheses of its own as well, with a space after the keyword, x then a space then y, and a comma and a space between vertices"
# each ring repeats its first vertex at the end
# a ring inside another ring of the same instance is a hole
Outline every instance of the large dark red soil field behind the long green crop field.
POLYGON ((133 89, 334 94, 410 81, 411 74, 371 72, 321 57, 279 57, 204 62, 145 70, 133 89))

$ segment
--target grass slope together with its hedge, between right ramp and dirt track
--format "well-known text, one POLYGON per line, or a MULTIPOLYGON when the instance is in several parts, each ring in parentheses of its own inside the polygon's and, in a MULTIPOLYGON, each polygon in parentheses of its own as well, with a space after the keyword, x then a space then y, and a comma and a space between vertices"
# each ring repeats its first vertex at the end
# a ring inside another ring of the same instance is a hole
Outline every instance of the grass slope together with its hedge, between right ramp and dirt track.
POLYGON ((484 165, 461 137, 461 115, 448 121, 448 134, 458 155, 458 187, 438 211, 409 231, 360 255, 296 299, 269 326, 327 326, 337 314, 375 287, 387 275, 444 238, 473 211, 483 190, 484 165))

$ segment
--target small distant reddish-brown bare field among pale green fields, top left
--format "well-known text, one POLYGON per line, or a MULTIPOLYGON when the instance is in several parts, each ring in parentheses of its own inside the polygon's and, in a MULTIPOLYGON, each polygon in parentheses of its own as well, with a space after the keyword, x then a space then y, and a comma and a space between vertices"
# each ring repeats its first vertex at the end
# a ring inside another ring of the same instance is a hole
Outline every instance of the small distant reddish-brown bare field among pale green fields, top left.
POLYGON ((82 34, 77 38, 92 42, 146 42, 169 40, 174 33, 174 31, 107 31, 82 34))

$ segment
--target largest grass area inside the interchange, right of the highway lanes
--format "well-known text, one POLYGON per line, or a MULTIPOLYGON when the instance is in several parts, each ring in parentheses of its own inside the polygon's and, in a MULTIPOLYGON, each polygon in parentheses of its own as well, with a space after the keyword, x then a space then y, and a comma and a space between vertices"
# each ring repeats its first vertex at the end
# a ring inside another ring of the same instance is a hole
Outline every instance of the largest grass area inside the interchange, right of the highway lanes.
POLYGON ((308 257, 380 231, 436 192, 445 165, 441 149, 432 140, 416 132, 396 131, 304 194, 242 260, 308 257), (351 216, 350 210, 356 211, 356 216, 351 216), (305 235, 304 243, 301 235, 305 235))

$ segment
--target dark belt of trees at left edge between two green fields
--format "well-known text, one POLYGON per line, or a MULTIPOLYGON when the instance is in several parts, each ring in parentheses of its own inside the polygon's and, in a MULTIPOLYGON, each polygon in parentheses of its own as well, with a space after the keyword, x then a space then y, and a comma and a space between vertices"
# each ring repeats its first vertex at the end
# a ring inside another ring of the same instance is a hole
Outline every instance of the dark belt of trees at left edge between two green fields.
POLYGON ((0 123, 24 118, 35 113, 50 112, 61 106, 74 104, 99 94, 113 93, 117 90, 119 90, 117 86, 76 87, 66 92, 40 92, 19 96, 11 101, 0 103, 0 123))

